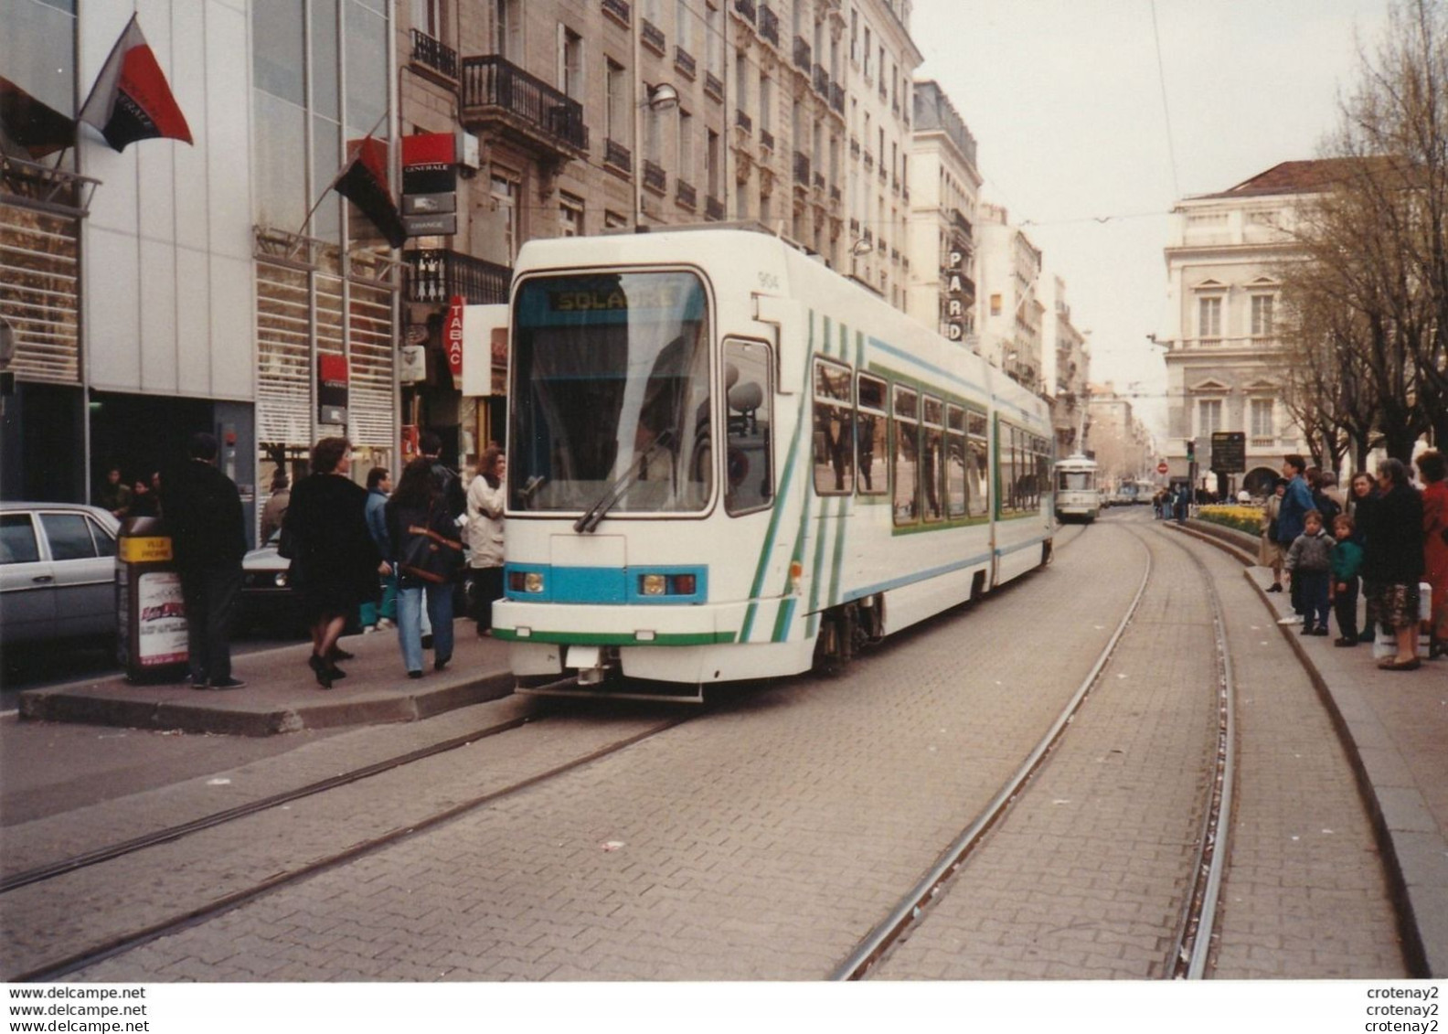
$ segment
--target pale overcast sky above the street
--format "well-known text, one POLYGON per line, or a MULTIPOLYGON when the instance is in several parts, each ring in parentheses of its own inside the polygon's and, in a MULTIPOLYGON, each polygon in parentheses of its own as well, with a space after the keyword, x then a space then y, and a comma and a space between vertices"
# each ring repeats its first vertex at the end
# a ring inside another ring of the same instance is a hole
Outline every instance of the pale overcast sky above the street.
POLYGON ((1316 158, 1386 23, 1387 0, 914 0, 911 36, 982 198, 1064 278, 1092 381, 1140 394, 1160 437, 1167 213, 1316 158))

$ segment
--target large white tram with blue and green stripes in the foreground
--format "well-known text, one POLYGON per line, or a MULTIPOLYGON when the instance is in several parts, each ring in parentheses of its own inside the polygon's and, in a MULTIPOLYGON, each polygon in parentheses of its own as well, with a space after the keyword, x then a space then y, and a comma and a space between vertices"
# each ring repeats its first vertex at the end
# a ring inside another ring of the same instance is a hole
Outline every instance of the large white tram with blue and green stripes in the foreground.
POLYGON ((1041 400, 769 233, 533 240, 476 308, 518 676, 791 675, 1050 559, 1041 400))

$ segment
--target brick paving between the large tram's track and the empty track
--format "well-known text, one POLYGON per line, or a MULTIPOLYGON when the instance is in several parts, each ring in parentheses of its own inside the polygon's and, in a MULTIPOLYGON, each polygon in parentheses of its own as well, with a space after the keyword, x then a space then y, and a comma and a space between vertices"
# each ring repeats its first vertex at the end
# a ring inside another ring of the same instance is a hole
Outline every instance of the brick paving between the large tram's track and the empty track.
POLYGON ((1044 733, 1140 552, 1103 527, 844 676, 741 697, 80 979, 820 979, 1044 733), (1030 655, 1040 627, 1053 649, 1030 655))

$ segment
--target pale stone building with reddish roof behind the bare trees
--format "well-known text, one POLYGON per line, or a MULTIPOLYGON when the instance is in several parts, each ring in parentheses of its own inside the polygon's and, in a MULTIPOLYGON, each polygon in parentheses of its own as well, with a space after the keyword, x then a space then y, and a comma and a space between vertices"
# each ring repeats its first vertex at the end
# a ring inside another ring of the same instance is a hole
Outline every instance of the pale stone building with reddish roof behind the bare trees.
MULTIPOLYGON (((1163 455, 1170 476, 1186 476, 1187 439, 1209 442, 1213 432, 1247 434, 1247 471, 1232 475, 1232 491, 1266 494, 1283 455, 1306 455, 1281 397, 1281 284, 1274 269, 1300 259, 1292 242, 1295 207, 1321 191, 1332 169, 1332 161, 1283 162, 1231 190, 1183 198, 1173 210, 1166 248, 1171 306, 1158 339, 1169 349, 1163 455)), ((1197 465, 1205 478, 1200 447, 1197 465)))

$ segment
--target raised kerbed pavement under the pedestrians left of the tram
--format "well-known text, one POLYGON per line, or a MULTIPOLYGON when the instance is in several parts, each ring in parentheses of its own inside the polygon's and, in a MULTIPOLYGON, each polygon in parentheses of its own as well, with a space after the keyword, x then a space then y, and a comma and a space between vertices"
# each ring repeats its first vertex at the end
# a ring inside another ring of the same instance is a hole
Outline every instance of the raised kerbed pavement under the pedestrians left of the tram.
POLYGON ((235 655, 232 673, 246 686, 198 691, 188 682, 136 685, 123 675, 71 682, 20 694, 20 718, 74 721, 129 728, 177 728, 187 733, 271 736, 301 728, 332 728, 384 721, 417 721, 469 704, 507 697, 514 679, 505 643, 479 637, 471 621, 456 623, 452 663, 410 679, 403 671, 397 634, 348 636, 340 662, 348 676, 330 691, 317 685, 307 659, 311 643, 235 655))

